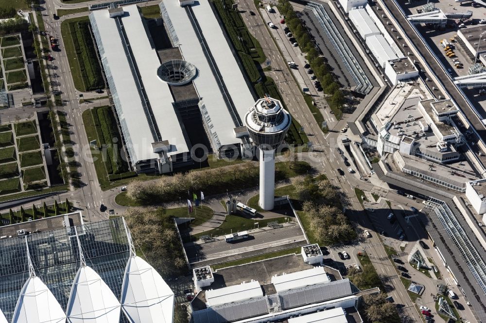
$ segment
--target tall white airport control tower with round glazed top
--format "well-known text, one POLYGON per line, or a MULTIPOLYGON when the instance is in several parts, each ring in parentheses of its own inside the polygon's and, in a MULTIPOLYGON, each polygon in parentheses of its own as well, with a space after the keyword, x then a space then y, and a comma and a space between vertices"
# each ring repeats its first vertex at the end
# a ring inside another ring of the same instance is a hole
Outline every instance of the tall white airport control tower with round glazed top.
POLYGON ((260 149, 260 201, 263 210, 272 210, 275 195, 275 149, 283 142, 292 117, 279 100, 259 99, 244 117, 255 146, 260 149))

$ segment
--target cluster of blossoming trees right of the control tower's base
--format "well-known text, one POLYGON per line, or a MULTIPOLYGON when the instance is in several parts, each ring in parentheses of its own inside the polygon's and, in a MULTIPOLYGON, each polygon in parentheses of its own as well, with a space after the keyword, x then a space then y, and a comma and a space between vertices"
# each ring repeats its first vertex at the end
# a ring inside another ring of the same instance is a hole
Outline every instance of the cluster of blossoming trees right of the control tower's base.
POLYGON ((324 177, 297 178, 294 192, 302 202, 309 230, 319 242, 335 244, 356 239, 357 234, 343 214, 339 189, 324 177))

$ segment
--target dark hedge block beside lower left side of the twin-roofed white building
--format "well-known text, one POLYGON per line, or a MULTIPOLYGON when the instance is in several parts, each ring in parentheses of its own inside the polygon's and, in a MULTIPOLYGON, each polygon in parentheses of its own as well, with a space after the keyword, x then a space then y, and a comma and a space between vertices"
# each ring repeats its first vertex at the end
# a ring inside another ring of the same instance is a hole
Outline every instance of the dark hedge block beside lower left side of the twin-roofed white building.
POLYGON ((121 174, 125 171, 124 162, 121 159, 120 154, 121 140, 117 131, 117 125, 112 117, 111 109, 109 107, 98 107, 96 108, 95 113, 98 117, 104 144, 106 144, 108 155, 106 161, 106 171, 108 174, 121 174))

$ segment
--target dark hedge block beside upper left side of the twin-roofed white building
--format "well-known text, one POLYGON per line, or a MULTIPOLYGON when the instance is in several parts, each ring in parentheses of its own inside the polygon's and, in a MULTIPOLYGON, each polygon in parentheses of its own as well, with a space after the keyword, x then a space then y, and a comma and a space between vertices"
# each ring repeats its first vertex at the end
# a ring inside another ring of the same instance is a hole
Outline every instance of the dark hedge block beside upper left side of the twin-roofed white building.
POLYGON ((101 66, 98 63, 96 50, 89 33, 89 23, 69 23, 69 32, 72 36, 86 91, 103 88, 104 82, 101 66))

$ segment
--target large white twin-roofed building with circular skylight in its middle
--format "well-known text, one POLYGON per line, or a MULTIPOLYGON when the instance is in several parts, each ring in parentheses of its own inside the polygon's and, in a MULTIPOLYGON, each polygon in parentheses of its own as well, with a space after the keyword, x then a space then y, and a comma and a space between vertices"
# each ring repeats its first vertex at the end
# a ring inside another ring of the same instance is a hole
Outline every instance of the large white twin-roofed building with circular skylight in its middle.
POLYGON ((243 117, 255 98, 208 0, 160 3, 148 21, 136 5, 89 19, 132 169, 167 173, 194 156, 251 153, 243 117), (235 72, 238 71, 238 72, 235 72), (202 135, 201 135, 202 134, 202 135))

